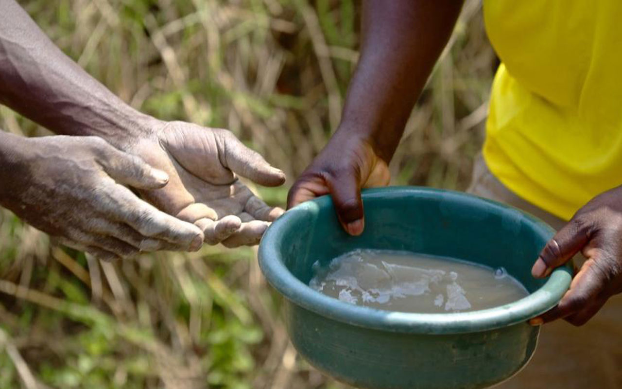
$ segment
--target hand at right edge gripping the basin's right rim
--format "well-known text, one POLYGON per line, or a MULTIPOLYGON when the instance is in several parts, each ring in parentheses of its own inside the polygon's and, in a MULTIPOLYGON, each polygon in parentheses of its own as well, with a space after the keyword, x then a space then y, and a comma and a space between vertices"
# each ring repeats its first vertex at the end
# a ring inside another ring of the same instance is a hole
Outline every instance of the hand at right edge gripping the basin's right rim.
POLYGON ((575 275, 557 307, 531 324, 564 318, 581 326, 607 299, 622 291, 622 187, 590 200, 542 250, 532 274, 542 278, 575 254, 587 261, 575 275))

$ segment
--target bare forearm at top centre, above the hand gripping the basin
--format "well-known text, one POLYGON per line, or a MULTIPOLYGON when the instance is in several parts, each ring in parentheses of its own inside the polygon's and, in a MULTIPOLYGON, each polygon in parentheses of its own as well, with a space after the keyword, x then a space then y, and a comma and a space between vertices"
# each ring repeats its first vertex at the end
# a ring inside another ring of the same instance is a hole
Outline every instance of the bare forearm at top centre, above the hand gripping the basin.
POLYGON ((461 7, 462 0, 363 2, 361 59, 341 134, 362 136, 379 157, 391 159, 461 7))

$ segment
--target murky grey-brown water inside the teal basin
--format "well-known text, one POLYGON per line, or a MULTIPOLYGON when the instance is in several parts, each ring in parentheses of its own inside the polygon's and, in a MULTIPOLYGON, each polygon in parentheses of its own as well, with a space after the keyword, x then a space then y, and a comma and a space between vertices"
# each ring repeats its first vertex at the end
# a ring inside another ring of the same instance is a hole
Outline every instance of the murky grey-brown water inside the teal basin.
POLYGON ((314 266, 309 286, 341 301, 399 312, 463 312, 527 296, 503 268, 406 251, 355 250, 314 266))

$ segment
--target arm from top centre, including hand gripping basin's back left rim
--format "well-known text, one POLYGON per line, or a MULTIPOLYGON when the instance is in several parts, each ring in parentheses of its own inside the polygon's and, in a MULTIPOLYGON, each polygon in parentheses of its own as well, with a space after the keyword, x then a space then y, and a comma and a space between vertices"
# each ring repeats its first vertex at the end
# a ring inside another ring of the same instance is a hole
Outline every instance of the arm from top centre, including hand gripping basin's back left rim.
POLYGON ((330 194, 343 227, 363 232, 361 188, 388 185, 388 164, 462 1, 363 2, 361 59, 343 118, 327 146, 289 192, 293 207, 330 194))

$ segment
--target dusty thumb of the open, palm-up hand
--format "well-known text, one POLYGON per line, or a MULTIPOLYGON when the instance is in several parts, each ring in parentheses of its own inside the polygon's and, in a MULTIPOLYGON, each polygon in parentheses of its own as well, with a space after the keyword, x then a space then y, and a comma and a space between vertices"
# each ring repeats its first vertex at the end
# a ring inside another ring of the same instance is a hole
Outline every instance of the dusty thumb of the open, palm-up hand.
POLYGON ((285 173, 271 166, 258 152, 244 146, 229 131, 221 133, 225 164, 236 174, 260 185, 279 186, 285 182, 285 173))

